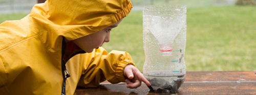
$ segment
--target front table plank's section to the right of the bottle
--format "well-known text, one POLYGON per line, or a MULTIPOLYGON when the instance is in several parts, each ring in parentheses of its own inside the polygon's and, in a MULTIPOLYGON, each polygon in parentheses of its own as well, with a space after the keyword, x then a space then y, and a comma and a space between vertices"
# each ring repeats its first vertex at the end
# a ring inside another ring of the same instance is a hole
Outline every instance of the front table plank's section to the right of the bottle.
POLYGON ((178 94, 256 94, 256 81, 185 82, 178 94))

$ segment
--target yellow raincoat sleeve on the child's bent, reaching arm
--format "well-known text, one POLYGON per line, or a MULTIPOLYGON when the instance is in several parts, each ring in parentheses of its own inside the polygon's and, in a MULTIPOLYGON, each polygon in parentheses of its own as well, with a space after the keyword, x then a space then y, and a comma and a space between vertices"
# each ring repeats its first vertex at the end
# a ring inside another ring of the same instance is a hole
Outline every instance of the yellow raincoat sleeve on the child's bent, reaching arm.
POLYGON ((84 54, 83 72, 78 86, 96 87, 100 82, 125 82, 123 70, 127 65, 134 65, 132 57, 124 51, 113 50, 107 53, 102 47, 92 53, 84 54))

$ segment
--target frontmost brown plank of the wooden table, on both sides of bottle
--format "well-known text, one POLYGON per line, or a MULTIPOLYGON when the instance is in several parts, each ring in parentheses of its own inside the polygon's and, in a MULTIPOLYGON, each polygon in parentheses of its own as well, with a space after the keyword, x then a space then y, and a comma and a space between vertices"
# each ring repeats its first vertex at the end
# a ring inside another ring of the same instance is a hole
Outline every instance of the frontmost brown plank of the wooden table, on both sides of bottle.
MULTIPOLYGON (((256 82, 184 82, 175 94, 256 94, 256 82)), ((77 88, 76 94, 170 94, 149 91, 145 84, 137 89, 126 84, 104 84, 97 88, 77 88)))

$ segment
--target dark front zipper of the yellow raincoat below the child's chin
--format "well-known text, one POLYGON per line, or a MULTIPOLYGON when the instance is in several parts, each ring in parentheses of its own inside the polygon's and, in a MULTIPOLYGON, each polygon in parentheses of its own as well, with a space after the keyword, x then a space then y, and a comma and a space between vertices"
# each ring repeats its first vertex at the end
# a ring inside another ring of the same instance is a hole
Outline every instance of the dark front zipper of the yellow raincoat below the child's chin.
POLYGON ((70 77, 70 74, 66 68, 67 61, 77 54, 86 53, 85 51, 79 51, 79 52, 72 54, 67 59, 64 59, 63 55, 65 54, 65 49, 66 49, 66 42, 65 42, 65 38, 63 37, 62 50, 61 50, 61 71, 62 71, 63 83, 62 83, 61 95, 66 95, 66 82, 67 82, 67 78, 70 77))

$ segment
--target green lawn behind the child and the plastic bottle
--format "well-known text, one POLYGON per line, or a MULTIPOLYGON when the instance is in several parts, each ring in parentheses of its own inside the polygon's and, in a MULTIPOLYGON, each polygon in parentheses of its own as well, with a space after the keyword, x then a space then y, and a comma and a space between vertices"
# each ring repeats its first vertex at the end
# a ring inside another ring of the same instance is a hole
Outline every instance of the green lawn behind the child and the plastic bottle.
MULTIPOLYGON (((252 6, 187 8, 187 71, 256 70, 255 10, 252 6)), ((25 15, 0 15, 0 22, 25 15)), ((111 31, 111 42, 103 47, 109 52, 129 52, 142 71, 142 12, 133 11, 123 19, 111 31)))

